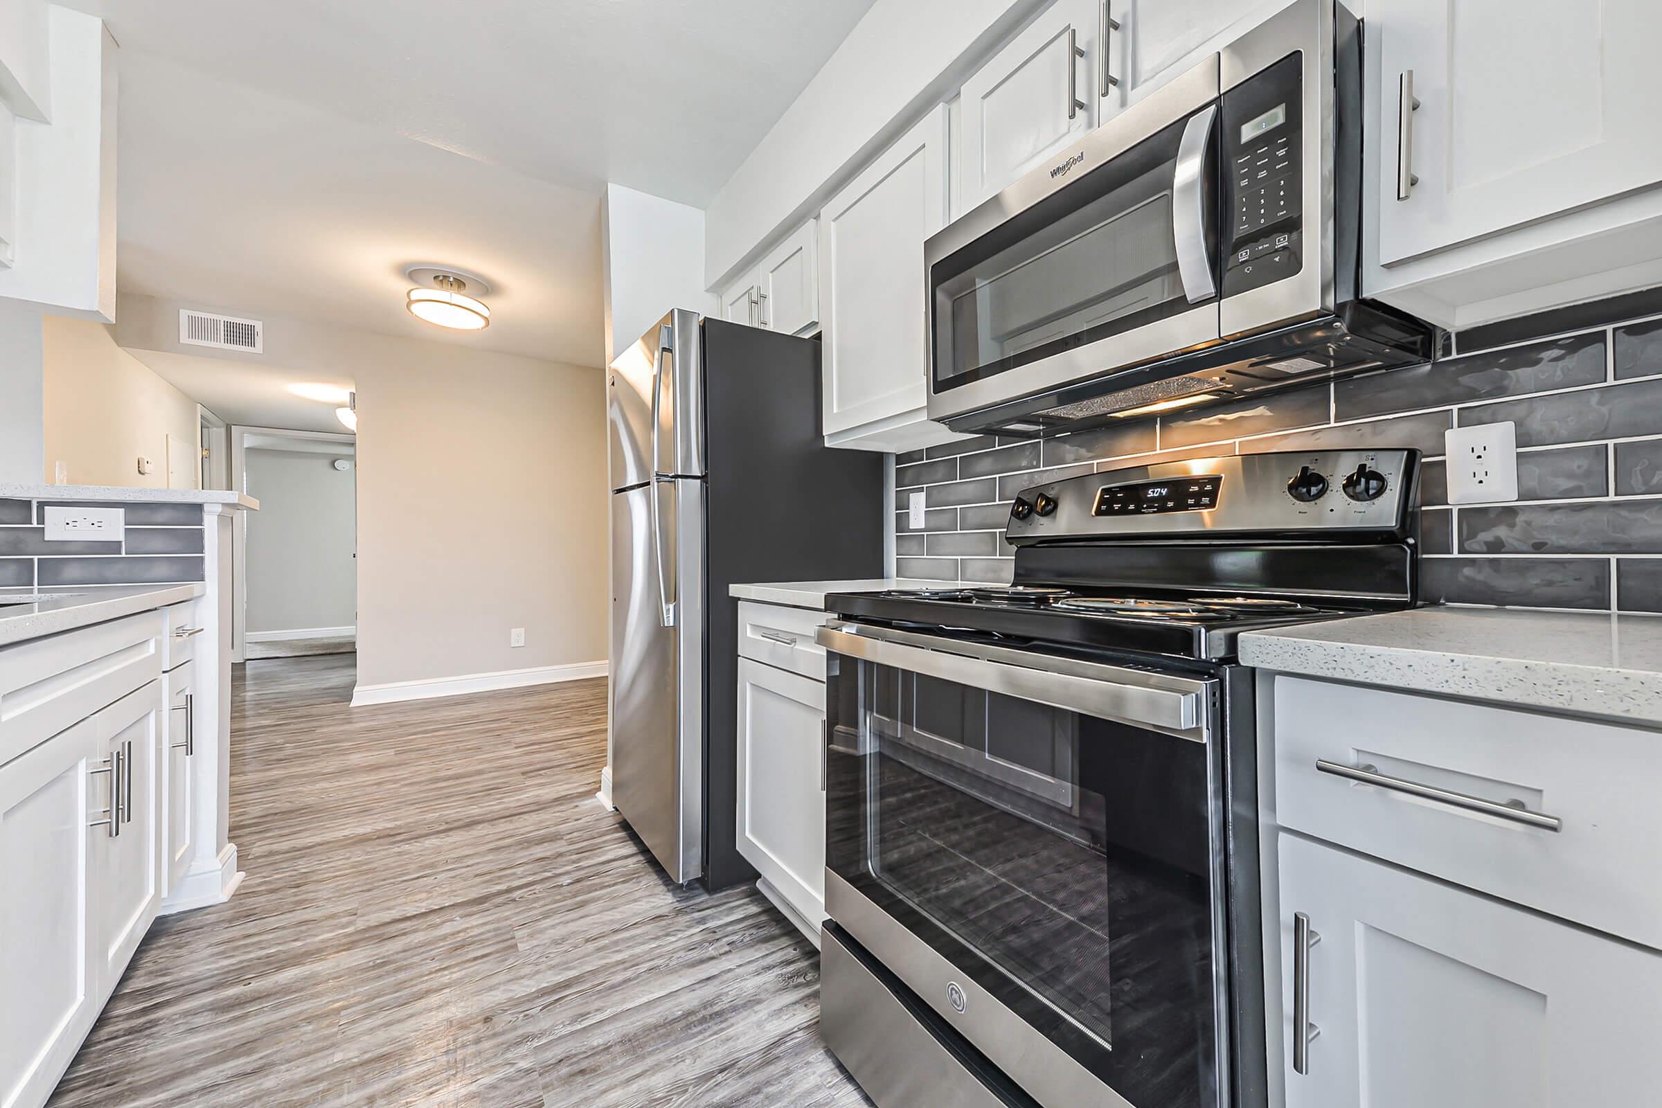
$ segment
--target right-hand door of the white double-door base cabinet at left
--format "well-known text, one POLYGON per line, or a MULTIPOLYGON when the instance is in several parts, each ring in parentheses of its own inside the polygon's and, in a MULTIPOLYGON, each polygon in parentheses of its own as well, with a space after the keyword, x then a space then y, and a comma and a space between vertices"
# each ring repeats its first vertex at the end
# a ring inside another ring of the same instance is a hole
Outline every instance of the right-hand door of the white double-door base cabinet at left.
POLYGON ((161 907, 161 683, 151 681, 93 716, 103 757, 121 753, 121 834, 98 841, 91 867, 98 885, 93 958, 105 993, 161 907))

